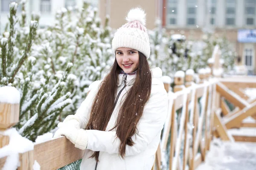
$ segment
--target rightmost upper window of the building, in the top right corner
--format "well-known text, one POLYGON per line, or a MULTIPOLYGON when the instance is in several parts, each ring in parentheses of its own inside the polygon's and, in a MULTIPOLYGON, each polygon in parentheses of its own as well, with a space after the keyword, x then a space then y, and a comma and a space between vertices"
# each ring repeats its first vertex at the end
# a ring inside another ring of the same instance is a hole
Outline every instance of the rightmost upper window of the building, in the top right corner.
POLYGON ((256 0, 245 0, 244 8, 245 25, 256 25, 256 0))

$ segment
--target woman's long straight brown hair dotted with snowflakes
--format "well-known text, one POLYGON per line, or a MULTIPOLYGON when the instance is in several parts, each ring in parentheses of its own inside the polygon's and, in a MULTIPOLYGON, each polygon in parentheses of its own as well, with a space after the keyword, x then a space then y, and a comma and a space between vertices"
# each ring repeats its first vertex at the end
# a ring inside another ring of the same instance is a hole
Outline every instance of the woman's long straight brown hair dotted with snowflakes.
MULTIPOLYGON (((105 131, 114 110, 115 94, 117 90, 118 75, 121 68, 115 59, 110 73, 100 85, 99 91, 93 100, 90 119, 86 129, 105 131)), ((128 91, 125 101, 119 110, 116 120, 116 136, 120 139, 119 155, 124 159, 126 144, 134 145, 131 137, 136 134, 137 123, 139 122, 145 103, 151 94, 151 71, 144 54, 139 51, 139 67, 133 86, 128 91)), ((91 156, 99 161, 99 151, 91 156)))

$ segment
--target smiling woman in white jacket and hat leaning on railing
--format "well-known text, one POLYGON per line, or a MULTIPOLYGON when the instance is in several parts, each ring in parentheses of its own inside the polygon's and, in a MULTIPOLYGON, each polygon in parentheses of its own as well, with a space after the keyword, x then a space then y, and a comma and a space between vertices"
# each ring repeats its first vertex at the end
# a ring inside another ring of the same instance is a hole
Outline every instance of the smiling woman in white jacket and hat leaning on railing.
POLYGON ((167 115, 160 68, 150 70, 145 13, 129 11, 128 23, 112 41, 116 59, 94 85, 75 115, 67 116, 55 138, 64 135, 86 149, 81 170, 151 170, 167 115))

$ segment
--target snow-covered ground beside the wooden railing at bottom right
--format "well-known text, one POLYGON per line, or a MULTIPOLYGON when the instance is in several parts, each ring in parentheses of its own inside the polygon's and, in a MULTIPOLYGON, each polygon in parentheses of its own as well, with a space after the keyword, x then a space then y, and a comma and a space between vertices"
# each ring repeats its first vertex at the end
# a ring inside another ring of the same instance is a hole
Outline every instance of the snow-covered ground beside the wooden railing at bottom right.
POLYGON ((256 143, 214 139, 205 162, 196 170, 256 170, 256 143))

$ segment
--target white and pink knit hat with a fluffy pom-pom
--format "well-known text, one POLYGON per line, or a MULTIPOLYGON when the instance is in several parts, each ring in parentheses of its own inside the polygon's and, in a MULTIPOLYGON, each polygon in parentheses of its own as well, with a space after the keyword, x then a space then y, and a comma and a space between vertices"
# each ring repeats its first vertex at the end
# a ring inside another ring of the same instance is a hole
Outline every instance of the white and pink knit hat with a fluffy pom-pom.
POLYGON ((145 27, 146 14, 141 8, 131 9, 126 17, 128 23, 120 27, 114 34, 112 50, 115 53, 117 48, 126 47, 140 51, 149 58, 150 45, 147 28, 145 27))

